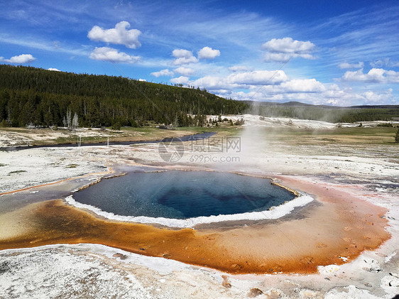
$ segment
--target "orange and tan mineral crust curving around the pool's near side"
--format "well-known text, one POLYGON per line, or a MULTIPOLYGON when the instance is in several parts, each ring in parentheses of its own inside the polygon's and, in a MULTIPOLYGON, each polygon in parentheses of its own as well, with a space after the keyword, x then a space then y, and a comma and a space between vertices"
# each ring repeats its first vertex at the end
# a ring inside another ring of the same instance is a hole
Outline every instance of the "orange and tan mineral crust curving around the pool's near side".
POLYGON ((300 217, 212 229, 168 229, 111 222, 62 200, 38 202, 0 214, 0 249, 94 243, 160 256, 228 273, 314 273, 344 263, 389 238, 386 210, 344 191, 280 177, 284 185, 315 195, 318 205, 300 217))

